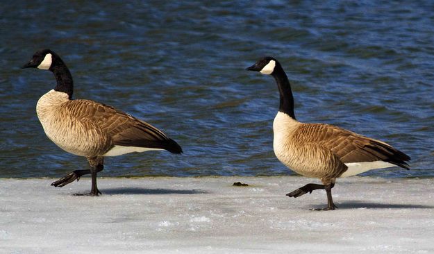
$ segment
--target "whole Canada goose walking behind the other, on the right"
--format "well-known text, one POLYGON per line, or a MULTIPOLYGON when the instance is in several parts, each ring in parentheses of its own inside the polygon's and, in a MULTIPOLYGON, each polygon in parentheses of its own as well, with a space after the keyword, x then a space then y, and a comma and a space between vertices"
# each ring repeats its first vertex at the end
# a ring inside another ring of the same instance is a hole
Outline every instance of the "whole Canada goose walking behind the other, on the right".
POLYGON ((325 189, 328 206, 323 210, 334 210, 337 207, 331 189, 336 178, 395 165, 408 169, 406 161, 410 157, 385 142, 328 124, 297 121, 290 81, 275 58, 261 58, 247 70, 272 75, 276 80, 280 105, 273 122, 273 148, 278 160, 303 176, 320 178, 323 183, 310 183, 287 196, 297 198, 315 189, 325 189))

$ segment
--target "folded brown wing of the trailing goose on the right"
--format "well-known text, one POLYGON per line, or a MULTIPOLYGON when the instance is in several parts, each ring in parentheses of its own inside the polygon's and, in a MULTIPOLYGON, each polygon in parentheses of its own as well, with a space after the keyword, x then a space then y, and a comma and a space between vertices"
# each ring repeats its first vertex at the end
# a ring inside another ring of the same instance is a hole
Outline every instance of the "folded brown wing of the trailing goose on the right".
POLYGON ((328 124, 303 124, 300 128, 303 135, 299 138, 304 142, 330 149, 344 163, 383 160, 408 169, 410 157, 385 142, 328 124))

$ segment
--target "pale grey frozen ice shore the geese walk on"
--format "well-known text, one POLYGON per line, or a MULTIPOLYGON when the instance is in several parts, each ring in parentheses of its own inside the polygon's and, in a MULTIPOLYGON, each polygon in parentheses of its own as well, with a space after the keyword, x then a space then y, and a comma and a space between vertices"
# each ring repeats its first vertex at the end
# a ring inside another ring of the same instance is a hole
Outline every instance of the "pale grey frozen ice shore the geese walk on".
POLYGON ((433 253, 434 178, 0 178, 0 253, 433 253), (241 181, 248 187, 233 187, 241 181))

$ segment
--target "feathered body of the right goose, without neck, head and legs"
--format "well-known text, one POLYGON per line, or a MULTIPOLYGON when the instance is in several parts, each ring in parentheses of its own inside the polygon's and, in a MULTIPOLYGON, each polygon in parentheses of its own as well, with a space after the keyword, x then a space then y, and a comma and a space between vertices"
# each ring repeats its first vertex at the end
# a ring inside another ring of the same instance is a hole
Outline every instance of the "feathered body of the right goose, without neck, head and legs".
POLYGON ((379 140, 329 124, 303 124, 283 112, 276 115, 273 130, 278 160, 311 178, 355 176, 371 169, 393 167, 395 164, 383 160, 398 153, 379 140))

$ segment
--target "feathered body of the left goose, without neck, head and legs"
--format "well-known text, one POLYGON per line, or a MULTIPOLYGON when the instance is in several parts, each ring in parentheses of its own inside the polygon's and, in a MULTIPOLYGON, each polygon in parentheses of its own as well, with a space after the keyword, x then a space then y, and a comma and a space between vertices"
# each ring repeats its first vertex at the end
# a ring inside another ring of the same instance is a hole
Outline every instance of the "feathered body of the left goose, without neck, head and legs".
POLYGON ((117 156, 162 150, 165 143, 170 149, 170 139, 157 128, 95 101, 70 100, 67 94, 51 90, 37 101, 36 112, 47 137, 61 149, 78 156, 117 156), (131 139, 126 140, 127 135, 131 139), (126 146, 128 142, 133 143, 133 135, 138 141, 142 138, 142 146, 126 146))

